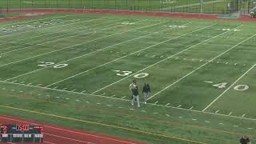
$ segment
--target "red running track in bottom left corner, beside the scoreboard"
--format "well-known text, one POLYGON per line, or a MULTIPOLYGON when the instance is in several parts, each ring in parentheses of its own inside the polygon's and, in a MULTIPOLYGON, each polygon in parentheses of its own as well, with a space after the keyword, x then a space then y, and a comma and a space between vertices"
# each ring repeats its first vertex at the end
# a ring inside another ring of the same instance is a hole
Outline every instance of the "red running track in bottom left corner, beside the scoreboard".
POLYGON ((82 130, 71 130, 42 122, 31 122, 20 118, 0 116, 1 124, 34 124, 44 126, 44 142, 46 144, 145 144, 122 138, 92 134, 82 130))

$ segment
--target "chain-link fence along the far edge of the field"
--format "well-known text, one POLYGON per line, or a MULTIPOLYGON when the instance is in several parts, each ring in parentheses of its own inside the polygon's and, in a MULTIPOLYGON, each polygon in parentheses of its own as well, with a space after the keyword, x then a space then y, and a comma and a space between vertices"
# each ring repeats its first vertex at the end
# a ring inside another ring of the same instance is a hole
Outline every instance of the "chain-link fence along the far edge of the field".
POLYGON ((179 13, 232 14, 250 10, 256 0, 1 0, 0 8, 138 10, 179 13))

